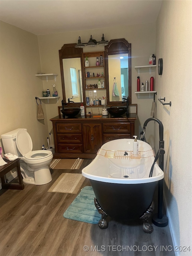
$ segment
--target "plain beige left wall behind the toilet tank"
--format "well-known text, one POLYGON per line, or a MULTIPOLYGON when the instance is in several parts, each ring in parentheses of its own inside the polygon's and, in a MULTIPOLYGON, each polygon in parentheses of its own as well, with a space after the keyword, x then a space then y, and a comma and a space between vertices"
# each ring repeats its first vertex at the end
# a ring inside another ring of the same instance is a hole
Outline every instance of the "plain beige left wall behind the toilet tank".
POLYGON ((0 26, 0 135, 27 128, 33 150, 38 150, 48 135, 44 106, 45 120, 37 120, 35 97, 43 91, 42 80, 35 77, 41 70, 38 38, 2 21, 0 26))

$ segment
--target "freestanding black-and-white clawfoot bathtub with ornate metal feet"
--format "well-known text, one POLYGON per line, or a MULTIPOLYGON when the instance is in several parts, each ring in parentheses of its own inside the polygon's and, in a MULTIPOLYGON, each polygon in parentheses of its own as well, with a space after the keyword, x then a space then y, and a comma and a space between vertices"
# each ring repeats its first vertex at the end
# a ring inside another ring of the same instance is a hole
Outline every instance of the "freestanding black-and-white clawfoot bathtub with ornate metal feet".
POLYGON ((107 228, 107 216, 119 220, 143 220, 143 230, 152 233, 149 224, 154 203, 153 195, 158 181, 164 178, 155 163, 152 147, 141 140, 139 155, 133 155, 134 139, 118 139, 105 143, 95 159, 83 168, 82 175, 91 182, 95 193, 95 206, 101 214, 99 227, 107 228))

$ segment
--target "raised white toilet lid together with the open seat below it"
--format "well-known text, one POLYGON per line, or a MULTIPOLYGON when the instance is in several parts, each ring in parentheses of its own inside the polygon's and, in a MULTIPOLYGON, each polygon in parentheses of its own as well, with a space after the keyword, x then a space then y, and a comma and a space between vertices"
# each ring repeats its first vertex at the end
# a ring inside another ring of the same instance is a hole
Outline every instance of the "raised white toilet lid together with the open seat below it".
POLYGON ((16 145, 22 156, 29 160, 45 159, 52 155, 49 150, 34 150, 32 139, 25 130, 19 130, 16 134, 16 145), (43 152, 42 152, 43 151, 43 152))

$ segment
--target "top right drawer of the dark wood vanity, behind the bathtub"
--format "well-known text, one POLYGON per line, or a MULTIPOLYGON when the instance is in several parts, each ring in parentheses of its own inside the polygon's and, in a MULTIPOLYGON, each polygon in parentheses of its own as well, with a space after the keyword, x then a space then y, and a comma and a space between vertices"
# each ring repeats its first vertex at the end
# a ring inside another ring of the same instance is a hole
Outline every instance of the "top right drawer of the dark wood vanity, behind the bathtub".
POLYGON ((131 134, 131 124, 103 124, 103 132, 131 134))

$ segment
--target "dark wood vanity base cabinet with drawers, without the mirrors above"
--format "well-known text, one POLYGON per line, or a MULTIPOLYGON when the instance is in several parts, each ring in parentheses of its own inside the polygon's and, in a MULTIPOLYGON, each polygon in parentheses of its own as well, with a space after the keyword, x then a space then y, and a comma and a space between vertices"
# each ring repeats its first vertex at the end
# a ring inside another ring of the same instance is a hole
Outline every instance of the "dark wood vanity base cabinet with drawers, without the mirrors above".
POLYGON ((79 114, 74 118, 56 116, 50 119, 55 140, 54 158, 95 158, 104 143, 133 138, 136 119, 137 113, 130 113, 128 118, 126 115, 82 117, 79 114))

